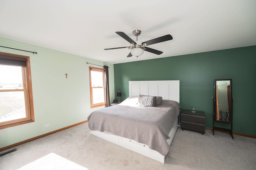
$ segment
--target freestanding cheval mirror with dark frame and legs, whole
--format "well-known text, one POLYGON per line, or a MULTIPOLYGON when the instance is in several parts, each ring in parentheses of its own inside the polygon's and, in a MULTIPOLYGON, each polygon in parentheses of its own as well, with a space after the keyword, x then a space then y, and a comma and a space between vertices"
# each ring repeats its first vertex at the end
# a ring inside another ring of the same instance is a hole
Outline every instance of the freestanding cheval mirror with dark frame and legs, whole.
POLYGON ((214 79, 214 97, 213 100, 213 123, 214 130, 222 130, 230 133, 232 139, 233 123, 233 97, 232 97, 232 79, 214 79), (215 127, 214 122, 230 124, 230 129, 215 127))

